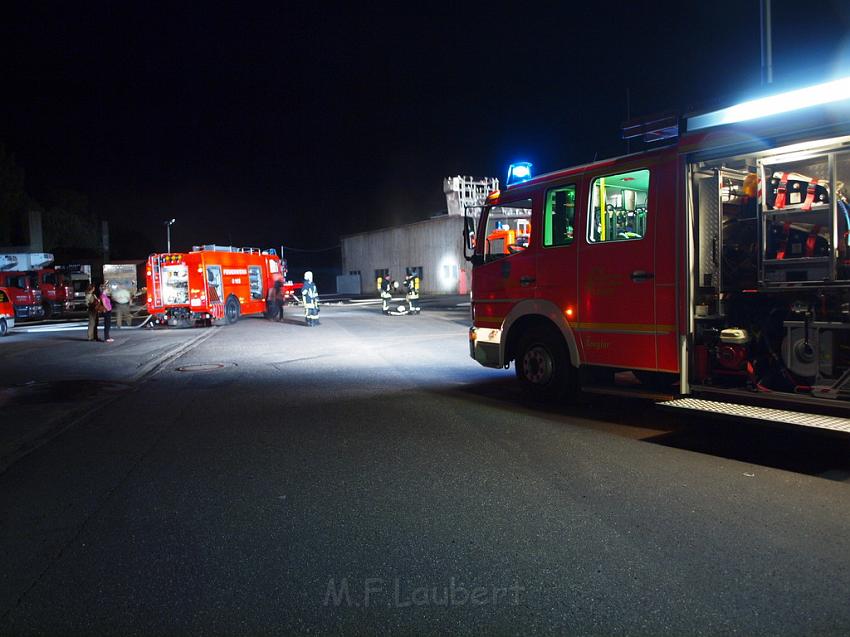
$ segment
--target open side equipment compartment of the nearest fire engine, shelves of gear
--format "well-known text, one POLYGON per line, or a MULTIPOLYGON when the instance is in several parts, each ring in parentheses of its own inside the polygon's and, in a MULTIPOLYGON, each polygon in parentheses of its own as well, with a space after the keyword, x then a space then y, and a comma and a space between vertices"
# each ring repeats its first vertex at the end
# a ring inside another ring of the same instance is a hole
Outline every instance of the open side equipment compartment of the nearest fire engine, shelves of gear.
POLYGON ((690 381, 850 400, 850 139, 690 167, 690 381))

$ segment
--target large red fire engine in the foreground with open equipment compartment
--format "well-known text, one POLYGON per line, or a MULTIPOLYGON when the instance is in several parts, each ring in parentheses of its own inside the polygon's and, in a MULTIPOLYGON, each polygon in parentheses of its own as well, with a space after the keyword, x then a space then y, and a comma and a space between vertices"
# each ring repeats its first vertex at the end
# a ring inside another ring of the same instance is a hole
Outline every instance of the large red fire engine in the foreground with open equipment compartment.
POLYGON ((540 398, 850 432, 850 78, 655 124, 467 214, 470 355, 540 398))

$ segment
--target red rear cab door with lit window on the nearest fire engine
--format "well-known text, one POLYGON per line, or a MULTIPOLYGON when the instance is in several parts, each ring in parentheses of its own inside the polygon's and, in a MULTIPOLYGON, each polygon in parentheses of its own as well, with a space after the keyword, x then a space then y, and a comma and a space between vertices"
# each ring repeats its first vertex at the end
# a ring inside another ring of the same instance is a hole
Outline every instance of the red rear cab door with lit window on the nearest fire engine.
POLYGON ((656 322, 656 232, 670 250, 674 241, 671 224, 659 231, 666 220, 656 204, 658 181, 649 169, 586 178, 589 192, 576 212, 583 217, 576 332, 586 363, 658 369, 656 335, 673 326, 656 322))

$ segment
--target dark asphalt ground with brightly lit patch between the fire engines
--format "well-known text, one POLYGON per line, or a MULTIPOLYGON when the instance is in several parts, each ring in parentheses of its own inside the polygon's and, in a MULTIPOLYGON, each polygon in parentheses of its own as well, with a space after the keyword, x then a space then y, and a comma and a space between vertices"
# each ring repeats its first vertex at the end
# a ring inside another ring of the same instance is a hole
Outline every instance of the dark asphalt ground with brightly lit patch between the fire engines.
POLYGON ((321 318, 4 339, 7 442, 52 424, 0 633, 850 632, 846 438, 527 404, 462 310, 321 318))

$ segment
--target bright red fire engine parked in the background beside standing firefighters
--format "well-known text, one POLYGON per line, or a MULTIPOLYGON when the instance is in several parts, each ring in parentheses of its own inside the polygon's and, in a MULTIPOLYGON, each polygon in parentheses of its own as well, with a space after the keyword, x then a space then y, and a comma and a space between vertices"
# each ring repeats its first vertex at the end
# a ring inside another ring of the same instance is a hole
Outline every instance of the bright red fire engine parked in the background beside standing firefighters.
POLYGON ((145 274, 148 312, 169 325, 234 323, 264 313, 269 289, 286 278, 274 250, 216 245, 152 254, 145 274))

